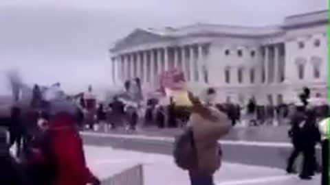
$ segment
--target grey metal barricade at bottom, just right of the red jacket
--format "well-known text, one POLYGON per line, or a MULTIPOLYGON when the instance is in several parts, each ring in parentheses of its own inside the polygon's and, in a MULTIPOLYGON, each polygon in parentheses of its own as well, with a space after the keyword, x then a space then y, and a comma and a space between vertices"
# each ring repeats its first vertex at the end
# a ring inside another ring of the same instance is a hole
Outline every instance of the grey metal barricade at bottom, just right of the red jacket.
POLYGON ((112 175, 107 180, 103 180, 102 185, 144 185, 143 165, 138 164, 112 175))

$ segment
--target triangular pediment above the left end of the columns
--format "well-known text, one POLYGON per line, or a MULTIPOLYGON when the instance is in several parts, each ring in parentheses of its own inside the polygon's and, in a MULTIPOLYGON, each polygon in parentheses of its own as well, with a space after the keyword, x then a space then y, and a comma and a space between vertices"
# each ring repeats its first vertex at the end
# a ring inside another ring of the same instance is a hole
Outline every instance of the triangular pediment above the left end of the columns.
POLYGON ((131 34, 118 41, 115 47, 113 47, 113 50, 124 49, 125 47, 140 45, 142 43, 157 42, 165 38, 164 36, 143 29, 135 29, 131 34))

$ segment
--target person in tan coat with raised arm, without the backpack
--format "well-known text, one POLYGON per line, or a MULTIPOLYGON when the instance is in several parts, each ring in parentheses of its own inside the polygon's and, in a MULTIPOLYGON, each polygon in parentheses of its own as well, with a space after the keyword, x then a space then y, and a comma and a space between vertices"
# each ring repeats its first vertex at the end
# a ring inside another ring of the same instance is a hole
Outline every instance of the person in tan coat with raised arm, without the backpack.
POLYGON ((207 90, 206 102, 203 105, 191 93, 192 114, 188 126, 192 132, 197 150, 197 167, 189 170, 191 185, 214 185, 213 175, 221 167, 221 148, 218 140, 228 134, 231 128, 227 114, 212 106, 216 96, 213 88, 207 90))

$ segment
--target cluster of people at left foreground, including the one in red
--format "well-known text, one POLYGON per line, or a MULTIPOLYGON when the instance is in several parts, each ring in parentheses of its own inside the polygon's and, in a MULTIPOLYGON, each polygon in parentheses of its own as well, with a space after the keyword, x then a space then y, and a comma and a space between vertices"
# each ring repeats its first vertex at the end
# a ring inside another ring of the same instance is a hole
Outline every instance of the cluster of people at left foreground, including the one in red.
POLYGON ((1 128, 0 184, 100 184, 85 161, 76 105, 61 90, 43 96, 38 86, 33 91, 30 105, 12 105, 9 140, 1 128))

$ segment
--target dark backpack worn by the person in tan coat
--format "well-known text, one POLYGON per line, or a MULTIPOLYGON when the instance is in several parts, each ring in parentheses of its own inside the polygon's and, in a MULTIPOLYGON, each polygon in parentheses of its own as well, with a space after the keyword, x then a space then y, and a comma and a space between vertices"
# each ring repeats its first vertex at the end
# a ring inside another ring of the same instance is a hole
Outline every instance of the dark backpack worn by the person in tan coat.
POLYGON ((175 164, 181 169, 190 170, 197 168, 197 149, 194 134, 190 127, 175 138, 173 157, 175 164))

